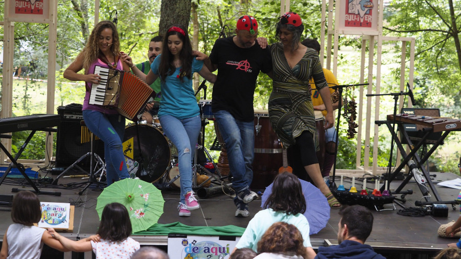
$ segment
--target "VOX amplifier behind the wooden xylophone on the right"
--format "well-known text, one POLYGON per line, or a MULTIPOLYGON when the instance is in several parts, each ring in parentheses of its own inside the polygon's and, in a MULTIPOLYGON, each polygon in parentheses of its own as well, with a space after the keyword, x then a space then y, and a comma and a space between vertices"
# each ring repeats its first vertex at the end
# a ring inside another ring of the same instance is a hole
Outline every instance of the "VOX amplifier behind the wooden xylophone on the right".
MULTIPOLYGON (((402 108, 401 113, 417 116, 440 117, 440 110, 435 108, 402 108)), ((423 132, 422 125, 404 123, 403 126, 405 128, 405 132, 408 134, 408 137, 410 137, 410 140, 413 142, 413 144, 415 144, 415 141, 420 141, 425 134, 425 132, 423 132)), ((435 144, 441 137, 442 132, 430 133, 424 144, 435 144)), ((402 133, 400 134, 400 140, 402 141, 402 144, 408 144, 402 133)))

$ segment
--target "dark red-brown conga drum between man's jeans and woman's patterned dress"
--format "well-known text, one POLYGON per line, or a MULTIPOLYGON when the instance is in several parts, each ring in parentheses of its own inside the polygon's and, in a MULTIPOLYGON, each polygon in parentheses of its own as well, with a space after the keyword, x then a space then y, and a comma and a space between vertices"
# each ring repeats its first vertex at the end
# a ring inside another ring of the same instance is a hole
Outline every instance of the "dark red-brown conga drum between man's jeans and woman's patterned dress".
POLYGON ((282 145, 274 132, 267 110, 255 110, 255 159, 252 189, 269 186, 283 165, 282 145))

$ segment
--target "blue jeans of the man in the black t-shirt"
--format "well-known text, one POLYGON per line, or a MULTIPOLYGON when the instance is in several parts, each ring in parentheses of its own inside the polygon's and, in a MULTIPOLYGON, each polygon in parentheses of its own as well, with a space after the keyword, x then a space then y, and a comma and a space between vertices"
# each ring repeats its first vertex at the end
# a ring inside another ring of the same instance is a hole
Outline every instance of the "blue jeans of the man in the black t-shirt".
MULTIPOLYGON (((255 158, 255 123, 237 120, 227 111, 213 112, 219 132, 226 144, 229 169, 233 176, 232 187, 239 193, 253 180, 255 158)), ((237 197, 234 202, 238 201, 237 197)))

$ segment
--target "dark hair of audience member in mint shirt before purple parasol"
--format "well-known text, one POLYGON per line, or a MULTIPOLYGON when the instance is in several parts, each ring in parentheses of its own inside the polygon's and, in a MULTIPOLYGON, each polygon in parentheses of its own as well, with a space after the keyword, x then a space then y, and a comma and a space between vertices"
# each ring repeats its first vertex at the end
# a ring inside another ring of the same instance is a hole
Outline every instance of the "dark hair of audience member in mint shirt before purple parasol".
POLYGON ((287 214, 298 214, 306 211, 306 199, 297 176, 283 172, 272 185, 272 192, 264 203, 264 208, 284 211, 287 214))

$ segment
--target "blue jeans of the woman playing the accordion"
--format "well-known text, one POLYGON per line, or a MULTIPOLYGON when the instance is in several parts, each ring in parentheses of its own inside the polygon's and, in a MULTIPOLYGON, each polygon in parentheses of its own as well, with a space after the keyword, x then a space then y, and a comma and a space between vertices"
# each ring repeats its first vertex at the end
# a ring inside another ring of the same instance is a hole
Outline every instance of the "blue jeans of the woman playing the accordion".
POLYGON ((104 142, 107 185, 130 177, 122 147, 125 117, 91 110, 84 110, 82 113, 88 129, 104 142))

